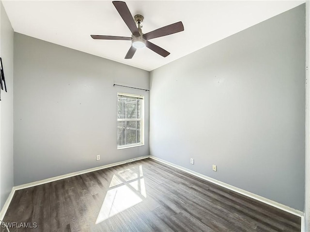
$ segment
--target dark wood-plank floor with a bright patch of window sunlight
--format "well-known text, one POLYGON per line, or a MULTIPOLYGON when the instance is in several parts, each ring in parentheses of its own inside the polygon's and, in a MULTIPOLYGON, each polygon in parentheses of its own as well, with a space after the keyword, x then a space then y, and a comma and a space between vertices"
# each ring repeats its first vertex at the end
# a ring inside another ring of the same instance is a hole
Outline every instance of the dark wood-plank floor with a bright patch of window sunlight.
POLYGON ((152 159, 17 190, 4 221, 37 225, 10 232, 300 232, 300 217, 152 159))

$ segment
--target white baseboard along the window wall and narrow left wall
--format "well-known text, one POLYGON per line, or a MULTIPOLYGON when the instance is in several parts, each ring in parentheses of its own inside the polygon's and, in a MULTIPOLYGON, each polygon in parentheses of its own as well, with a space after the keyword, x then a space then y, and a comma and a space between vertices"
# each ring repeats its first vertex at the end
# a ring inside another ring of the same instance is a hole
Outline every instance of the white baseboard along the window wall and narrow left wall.
POLYGON ((85 174, 85 173, 90 173, 90 172, 93 172, 93 171, 97 171, 97 170, 101 170, 101 169, 105 169, 105 168, 109 168, 109 167, 114 167, 114 166, 125 164, 125 163, 130 163, 130 162, 137 161, 137 160, 143 160, 143 159, 146 159, 146 158, 149 158, 149 156, 141 156, 141 157, 130 159, 130 160, 124 160, 124 161, 120 161, 120 162, 116 162, 116 163, 111 163, 111 164, 103 165, 103 166, 100 166, 100 167, 85 169, 85 170, 74 172, 74 173, 69 173, 69 174, 64 174, 64 175, 59 175, 59 176, 51 177, 51 178, 44 179, 44 180, 34 181, 34 182, 31 182, 31 183, 28 183, 28 184, 24 184, 24 185, 14 186, 12 188, 12 191, 11 191, 9 197, 7 198, 6 202, 4 203, 4 205, 3 205, 3 207, 2 207, 2 209, 0 211, 0 220, 3 220, 3 217, 6 214, 6 211, 7 211, 8 207, 9 207, 11 201, 12 201, 12 198, 13 198, 14 193, 15 193, 16 190, 23 189, 23 188, 30 188, 30 187, 33 187, 33 186, 46 184, 46 183, 53 182, 53 181, 56 181, 56 180, 62 180, 62 179, 68 178, 68 177, 72 177, 72 176, 76 176, 76 175, 80 175, 80 174, 85 174))

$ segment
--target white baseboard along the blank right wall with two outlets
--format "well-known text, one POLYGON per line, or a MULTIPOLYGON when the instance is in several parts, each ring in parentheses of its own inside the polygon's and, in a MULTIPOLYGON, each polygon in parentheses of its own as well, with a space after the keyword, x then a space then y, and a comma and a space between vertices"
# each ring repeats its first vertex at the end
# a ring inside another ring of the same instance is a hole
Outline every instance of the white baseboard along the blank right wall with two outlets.
MULTIPOLYGON (((298 217, 302 217, 302 216, 304 215, 303 212, 301 212, 301 211, 299 211, 299 210, 297 210, 297 209, 291 208, 291 207, 289 207, 289 206, 287 206, 287 205, 284 205, 284 204, 281 204, 281 203, 278 203, 278 202, 269 200, 269 199, 264 198, 264 197, 262 197, 262 196, 259 196, 259 195, 256 195, 256 194, 254 194, 254 193, 251 193, 251 192, 248 192, 248 191, 246 191, 246 190, 243 190, 243 189, 241 189, 241 188, 234 187, 234 186, 232 186, 232 185, 229 185, 229 184, 226 184, 226 183, 224 183, 224 182, 218 181, 218 180, 213 179, 213 178, 211 178, 211 177, 208 177, 208 176, 206 176, 206 175, 203 175, 203 174, 194 172, 194 171, 192 171, 192 170, 189 170, 189 169, 187 169, 187 168, 181 167, 181 166, 179 166, 179 165, 176 165, 176 164, 174 164, 174 163, 168 162, 168 161, 166 161, 166 160, 159 159, 159 158, 157 158, 157 157, 155 157, 155 156, 150 156, 150 158, 153 159, 153 160, 157 160, 157 161, 159 161, 159 162, 165 163, 165 164, 167 164, 167 165, 169 165, 169 166, 171 166, 171 167, 174 167, 174 168, 177 168, 177 169, 179 169, 179 170, 182 170, 182 171, 184 171, 184 172, 186 172, 186 173, 189 173, 189 174, 195 175, 195 176, 197 176, 197 177, 200 177, 200 178, 202 178, 202 179, 204 179, 204 180, 210 181, 210 182, 212 182, 212 183, 214 183, 214 184, 217 184, 217 185, 219 185, 219 186, 222 186, 222 187, 224 187, 224 188, 228 188, 228 189, 230 189, 230 190, 233 190, 233 191, 235 191, 235 192, 238 192, 238 193, 240 193, 240 194, 242 194, 242 195, 245 195, 245 196, 250 197, 250 198, 252 198, 252 199, 255 199, 255 200, 257 200, 257 201, 260 201, 260 202, 269 204, 269 205, 271 205, 271 206, 273 206, 273 207, 276 207, 276 208, 278 208, 278 209, 281 209, 281 210, 283 210, 283 211, 285 211, 285 212, 291 213, 291 214, 296 215, 296 216, 298 216, 298 217)), ((302 232, 303 232, 303 231, 302 231, 302 232)))

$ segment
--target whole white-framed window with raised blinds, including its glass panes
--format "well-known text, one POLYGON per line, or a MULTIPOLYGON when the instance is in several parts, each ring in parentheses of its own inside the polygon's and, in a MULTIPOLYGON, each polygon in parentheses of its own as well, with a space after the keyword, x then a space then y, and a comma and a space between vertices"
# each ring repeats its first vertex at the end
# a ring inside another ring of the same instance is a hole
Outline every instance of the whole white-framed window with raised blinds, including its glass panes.
POLYGON ((143 145, 144 96, 117 94, 117 148, 143 145))

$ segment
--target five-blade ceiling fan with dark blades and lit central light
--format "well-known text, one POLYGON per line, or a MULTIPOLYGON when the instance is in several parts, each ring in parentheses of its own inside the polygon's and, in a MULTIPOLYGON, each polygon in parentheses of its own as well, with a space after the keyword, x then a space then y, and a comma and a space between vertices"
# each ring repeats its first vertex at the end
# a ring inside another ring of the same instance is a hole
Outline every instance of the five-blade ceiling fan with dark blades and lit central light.
POLYGON ((160 56, 167 57, 170 52, 166 51, 165 49, 151 43, 149 40, 171 35, 180 31, 184 30, 182 22, 173 23, 171 25, 153 30, 146 34, 142 33, 142 23, 143 23, 143 16, 137 14, 132 17, 126 3, 124 1, 112 1, 116 10, 123 18, 125 24, 130 29, 132 35, 131 37, 124 37, 124 36, 110 36, 110 35, 91 35, 91 37, 95 40, 130 40, 131 47, 129 48, 125 59, 131 59, 137 48, 147 47, 154 51, 155 53, 159 54, 160 56), (138 27, 136 26, 136 23, 138 27))

